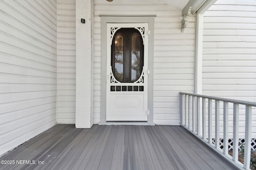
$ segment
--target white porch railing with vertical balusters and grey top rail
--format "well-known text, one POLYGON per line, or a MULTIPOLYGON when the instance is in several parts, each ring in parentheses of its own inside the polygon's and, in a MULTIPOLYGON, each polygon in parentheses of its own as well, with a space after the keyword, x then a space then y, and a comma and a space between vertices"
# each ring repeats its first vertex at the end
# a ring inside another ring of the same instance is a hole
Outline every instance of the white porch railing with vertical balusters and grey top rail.
POLYGON ((231 160, 239 168, 250 169, 252 107, 255 102, 245 102, 226 98, 217 98, 199 94, 180 92, 180 124, 192 131, 199 139, 214 150, 221 152, 227 160, 231 160), (215 120, 212 120, 212 100, 215 101, 215 120), (208 125, 206 125, 206 102, 208 102, 208 125), (223 150, 220 149, 220 102, 223 102, 223 150), (233 104, 233 156, 228 154, 228 104, 233 104), (200 105, 202 104, 202 107, 200 105), (239 105, 245 106, 244 164, 238 162, 239 105), (214 122, 214 126, 212 125, 214 122), (208 126, 208 129, 206 129, 208 126), (215 128, 212 136, 212 129, 215 128), (208 132, 208 137, 206 136, 208 132), (215 145, 212 139, 215 138, 215 145))

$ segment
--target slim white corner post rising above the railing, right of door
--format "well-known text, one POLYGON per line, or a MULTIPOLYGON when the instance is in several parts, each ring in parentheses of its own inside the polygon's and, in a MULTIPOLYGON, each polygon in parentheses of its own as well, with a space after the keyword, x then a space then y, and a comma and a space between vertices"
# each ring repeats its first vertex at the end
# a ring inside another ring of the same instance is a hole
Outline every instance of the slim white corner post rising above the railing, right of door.
POLYGON ((202 94, 203 14, 196 15, 194 93, 202 94))

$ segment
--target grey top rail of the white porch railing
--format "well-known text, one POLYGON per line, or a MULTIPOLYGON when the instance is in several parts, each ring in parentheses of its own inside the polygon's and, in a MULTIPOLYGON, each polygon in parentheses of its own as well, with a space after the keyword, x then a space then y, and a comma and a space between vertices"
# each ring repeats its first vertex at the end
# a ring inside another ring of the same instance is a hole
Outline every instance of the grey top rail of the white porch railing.
POLYGON ((212 100, 220 100, 223 102, 230 102, 230 103, 235 103, 235 104, 243 104, 246 106, 255 106, 256 107, 256 102, 246 102, 243 100, 219 98, 219 97, 206 96, 206 95, 202 95, 202 94, 185 93, 185 92, 180 92, 180 94, 186 94, 186 95, 190 95, 190 96, 196 96, 196 97, 201 97, 201 98, 208 98, 208 99, 212 99, 212 100))

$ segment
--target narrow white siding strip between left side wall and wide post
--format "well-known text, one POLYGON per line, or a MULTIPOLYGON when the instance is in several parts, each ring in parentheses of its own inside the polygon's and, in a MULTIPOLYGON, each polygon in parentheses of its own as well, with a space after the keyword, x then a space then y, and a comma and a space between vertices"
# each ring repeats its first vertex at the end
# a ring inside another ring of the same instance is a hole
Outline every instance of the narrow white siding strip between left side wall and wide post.
POLYGON ((75 123, 76 0, 58 0, 58 123, 75 123))

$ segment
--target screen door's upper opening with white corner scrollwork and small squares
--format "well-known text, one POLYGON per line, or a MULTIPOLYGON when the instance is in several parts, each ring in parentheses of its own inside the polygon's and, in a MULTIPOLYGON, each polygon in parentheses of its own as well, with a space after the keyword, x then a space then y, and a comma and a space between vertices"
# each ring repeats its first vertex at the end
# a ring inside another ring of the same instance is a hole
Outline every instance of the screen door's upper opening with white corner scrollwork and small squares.
POLYGON ((111 27, 110 91, 144 91, 144 33, 144 27, 111 27))

